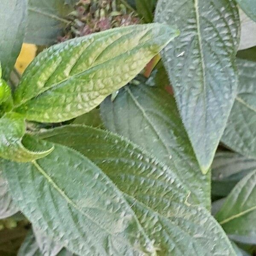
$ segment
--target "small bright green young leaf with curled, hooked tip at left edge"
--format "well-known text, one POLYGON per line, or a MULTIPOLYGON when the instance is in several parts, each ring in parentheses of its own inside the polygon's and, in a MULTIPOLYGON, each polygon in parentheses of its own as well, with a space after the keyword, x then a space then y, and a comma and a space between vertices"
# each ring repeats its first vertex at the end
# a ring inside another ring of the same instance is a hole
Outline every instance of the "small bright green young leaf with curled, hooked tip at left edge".
POLYGON ((29 162, 50 154, 46 151, 31 151, 24 147, 25 119, 19 113, 9 112, 0 119, 0 157, 17 162, 29 162))

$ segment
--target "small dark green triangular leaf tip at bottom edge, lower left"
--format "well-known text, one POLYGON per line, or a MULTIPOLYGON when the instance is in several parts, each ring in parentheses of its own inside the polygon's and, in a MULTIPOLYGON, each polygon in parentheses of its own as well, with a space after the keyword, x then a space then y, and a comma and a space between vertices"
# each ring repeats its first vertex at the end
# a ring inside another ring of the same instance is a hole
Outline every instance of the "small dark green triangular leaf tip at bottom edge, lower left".
POLYGON ((40 252, 32 230, 29 230, 27 233, 27 236, 23 241, 23 244, 21 244, 17 256, 43 256, 43 253, 40 252))

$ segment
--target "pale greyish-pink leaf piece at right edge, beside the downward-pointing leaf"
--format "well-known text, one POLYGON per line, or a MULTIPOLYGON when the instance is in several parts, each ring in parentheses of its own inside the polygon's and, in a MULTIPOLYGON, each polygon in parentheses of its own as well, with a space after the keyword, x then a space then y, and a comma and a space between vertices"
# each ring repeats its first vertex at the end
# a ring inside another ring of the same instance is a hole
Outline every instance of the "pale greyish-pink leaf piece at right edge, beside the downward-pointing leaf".
POLYGON ((247 49, 256 45, 256 22, 251 20, 241 9, 239 9, 241 20, 241 39, 239 50, 247 49))

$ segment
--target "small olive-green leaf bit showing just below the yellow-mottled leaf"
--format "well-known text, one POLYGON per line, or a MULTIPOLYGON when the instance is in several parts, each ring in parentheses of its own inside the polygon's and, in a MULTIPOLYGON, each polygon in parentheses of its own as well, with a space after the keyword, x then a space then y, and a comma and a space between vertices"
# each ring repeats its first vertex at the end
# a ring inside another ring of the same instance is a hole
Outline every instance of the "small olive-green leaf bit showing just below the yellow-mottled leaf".
POLYGON ((100 117, 99 108, 94 108, 92 111, 78 116, 74 121, 74 125, 89 125, 93 127, 103 127, 100 117))

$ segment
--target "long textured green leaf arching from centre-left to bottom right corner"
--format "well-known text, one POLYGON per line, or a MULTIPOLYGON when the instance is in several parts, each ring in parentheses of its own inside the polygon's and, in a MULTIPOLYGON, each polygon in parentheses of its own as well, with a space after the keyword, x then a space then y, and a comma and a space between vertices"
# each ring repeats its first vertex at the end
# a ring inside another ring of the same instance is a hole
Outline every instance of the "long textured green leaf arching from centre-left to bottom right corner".
POLYGON ((223 231, 168 168, 138 146, 107 131, 81 125, 41 134, 95 162, 123 192, 157 255, 235 255, 223 231), (182 239, 180 239, 182 238, 182 239))

